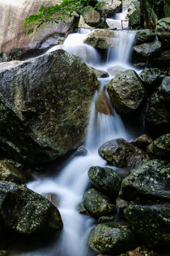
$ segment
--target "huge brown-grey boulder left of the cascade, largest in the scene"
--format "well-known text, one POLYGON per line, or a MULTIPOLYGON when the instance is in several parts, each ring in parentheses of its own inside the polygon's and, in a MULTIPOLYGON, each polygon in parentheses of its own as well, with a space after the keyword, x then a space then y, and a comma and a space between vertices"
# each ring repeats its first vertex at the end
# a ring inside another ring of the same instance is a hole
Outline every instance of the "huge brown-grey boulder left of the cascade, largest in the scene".
POLYGON ((0 107, 1 151, 6 157, 13 154, 14 160, 31 164, 79 146, 98 87, 85 63, 56 50, 1 70, 0 79, 6 99, 1 98, 0 107))

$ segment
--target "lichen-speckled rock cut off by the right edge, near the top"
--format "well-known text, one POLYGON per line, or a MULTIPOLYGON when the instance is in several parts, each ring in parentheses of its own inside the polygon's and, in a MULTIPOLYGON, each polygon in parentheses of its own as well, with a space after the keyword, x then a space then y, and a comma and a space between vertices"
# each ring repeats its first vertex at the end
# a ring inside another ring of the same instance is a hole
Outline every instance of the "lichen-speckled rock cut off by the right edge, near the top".
POLYGON ((166 45, 169 45, 170 41, 170 17, 161 18, 157 22, 155 33, 159 38, 159 41, 162 41, 166 45))

